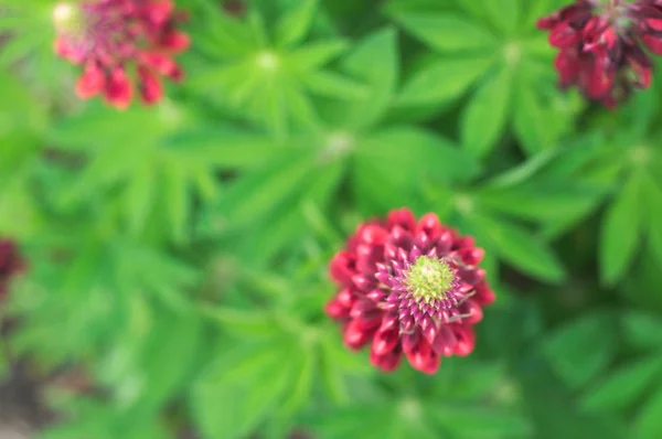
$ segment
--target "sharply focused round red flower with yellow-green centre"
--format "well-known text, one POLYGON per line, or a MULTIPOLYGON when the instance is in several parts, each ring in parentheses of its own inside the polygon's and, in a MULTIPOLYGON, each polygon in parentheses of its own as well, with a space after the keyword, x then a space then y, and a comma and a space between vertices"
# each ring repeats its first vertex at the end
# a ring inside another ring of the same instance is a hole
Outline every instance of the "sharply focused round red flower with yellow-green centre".
POLYGON ((329 266, 340 291, 327 313, 340 321, 354 350, 370 343, 371 363, 393 371, 403 354, 433 374, 441 356, 473 351, 473 324, 494 300, 483 250, 473 238, 427 214, 406 210, 359 226, 329 266))

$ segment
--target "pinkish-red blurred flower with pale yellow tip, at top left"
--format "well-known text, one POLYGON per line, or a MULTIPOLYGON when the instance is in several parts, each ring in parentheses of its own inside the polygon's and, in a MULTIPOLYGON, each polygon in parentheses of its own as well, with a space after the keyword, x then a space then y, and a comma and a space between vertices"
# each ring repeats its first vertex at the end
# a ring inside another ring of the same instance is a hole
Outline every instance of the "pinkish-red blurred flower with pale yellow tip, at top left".
POLYGON ((171 0, 88 0, 60 3, 53 10, 55 52, 83 65, 76 84, 82 99, 103 94, 116 108, 127 108, 134 84, 146 105, 161 99, 161 76, 179 82, 173 55, 189 46, 177 30, 183 15, 171 0))

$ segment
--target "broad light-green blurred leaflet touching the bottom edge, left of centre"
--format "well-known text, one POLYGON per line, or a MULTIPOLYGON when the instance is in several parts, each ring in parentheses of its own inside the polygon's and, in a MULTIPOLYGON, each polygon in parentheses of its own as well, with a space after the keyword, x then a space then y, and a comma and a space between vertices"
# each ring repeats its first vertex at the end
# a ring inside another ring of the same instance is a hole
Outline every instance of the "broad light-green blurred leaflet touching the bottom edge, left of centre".
POLYGON ((205 438, 245 437, 277 407, 292 383, 293 347, 274 339, 222 354, 191 396, 195 422, 205 438))

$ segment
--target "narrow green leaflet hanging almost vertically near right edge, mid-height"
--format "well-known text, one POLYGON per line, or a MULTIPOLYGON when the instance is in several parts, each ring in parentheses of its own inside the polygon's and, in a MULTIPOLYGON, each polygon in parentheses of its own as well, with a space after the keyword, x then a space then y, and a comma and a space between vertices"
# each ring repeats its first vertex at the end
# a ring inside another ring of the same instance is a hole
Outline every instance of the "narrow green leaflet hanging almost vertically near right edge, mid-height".
POLYGON ((600 279, 607 285, 616 283, 634 258, 643 226, 640 182, 637 174, 630 176, 602 221, 600 279))

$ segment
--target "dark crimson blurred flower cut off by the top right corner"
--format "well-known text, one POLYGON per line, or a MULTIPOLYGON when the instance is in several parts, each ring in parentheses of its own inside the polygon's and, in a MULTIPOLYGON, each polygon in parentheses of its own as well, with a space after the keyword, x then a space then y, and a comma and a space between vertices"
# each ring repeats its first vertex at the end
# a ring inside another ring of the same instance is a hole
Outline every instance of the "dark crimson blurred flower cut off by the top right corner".
POLYGON ((537 25, 560 50, 560 86, 575 85, 610 108, 651 84, 652 62, 641 44, 662 54, 662 0, 576 0, 537 25))

